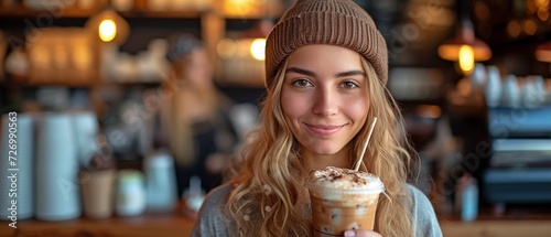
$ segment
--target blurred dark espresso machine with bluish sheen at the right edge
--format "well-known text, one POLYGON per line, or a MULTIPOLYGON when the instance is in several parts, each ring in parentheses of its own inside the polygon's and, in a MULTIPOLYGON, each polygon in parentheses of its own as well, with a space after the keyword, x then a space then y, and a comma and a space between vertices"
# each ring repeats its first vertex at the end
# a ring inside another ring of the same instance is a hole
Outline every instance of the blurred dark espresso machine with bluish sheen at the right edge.
POLYGON ((551 203, 551 105, 488 107, 489 163, 483 174, 490 204, 551 203))

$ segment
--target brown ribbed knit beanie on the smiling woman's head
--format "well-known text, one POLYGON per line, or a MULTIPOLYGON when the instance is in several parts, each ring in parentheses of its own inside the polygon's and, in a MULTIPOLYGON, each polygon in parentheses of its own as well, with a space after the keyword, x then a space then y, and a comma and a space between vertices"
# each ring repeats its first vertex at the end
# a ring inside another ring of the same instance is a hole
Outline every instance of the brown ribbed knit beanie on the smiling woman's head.
POLYGON ((371 63, 382 84, 387 83, 387 44, 364 9, 352 0, 296 0, 266 41, 267 87, 287 56, 310 44, 354 50, 371 63))

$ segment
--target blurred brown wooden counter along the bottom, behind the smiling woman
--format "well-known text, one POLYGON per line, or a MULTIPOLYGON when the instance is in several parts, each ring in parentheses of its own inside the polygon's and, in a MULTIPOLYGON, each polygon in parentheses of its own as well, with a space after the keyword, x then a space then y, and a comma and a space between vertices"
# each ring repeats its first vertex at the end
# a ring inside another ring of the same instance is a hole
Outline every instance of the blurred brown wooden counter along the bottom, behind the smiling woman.
MULTIPOLYGON (((551 213, 548 208, 532 212, 509 209, 501 215, 482 211, 472 223, 463 223, 453 215, 439 215, 445 237, 543 237, 551 236, 551 213)), ((111 217, 108 219, 78 218, 66 222, 18 222, 18 228, 0 222, 0 237, 184 237, 190 236, 195 219, 184 212, 171 214, 144 214, 136 217, 111 217)))

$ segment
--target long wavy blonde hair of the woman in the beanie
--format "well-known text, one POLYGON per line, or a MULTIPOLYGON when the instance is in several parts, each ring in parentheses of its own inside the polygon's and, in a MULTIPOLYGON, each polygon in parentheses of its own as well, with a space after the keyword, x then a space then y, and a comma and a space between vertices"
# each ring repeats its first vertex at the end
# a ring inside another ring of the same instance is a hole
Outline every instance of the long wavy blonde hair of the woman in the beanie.
MULTIPOLYGON (((397 103, 380 83, 372 66, 363 58, 369 80, 370 110, 350 149, 350 159, 360 154, 368 122, 376 126, 363 169, 378 175, 389 198, 381 197, 375 230, 382 236, 411 235, 411 203, 406 186, 414 164, 397 103)), ((251 133, 242 151, 242 162, 233 173, 226 205, 228 227, 236 236, 311 236, 311 213, 305 202, 299 146, 285 123, 281 109, 281 87, 287 62, 268 88, 261 111, 261 125, 251 133)), ((350 161, 354 163, 354 161, 350 161)))

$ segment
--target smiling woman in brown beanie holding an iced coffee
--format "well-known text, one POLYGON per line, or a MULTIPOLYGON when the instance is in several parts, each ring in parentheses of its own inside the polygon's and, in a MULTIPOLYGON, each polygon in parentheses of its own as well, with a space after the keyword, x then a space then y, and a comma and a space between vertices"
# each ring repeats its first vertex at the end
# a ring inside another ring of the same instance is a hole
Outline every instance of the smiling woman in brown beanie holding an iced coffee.
POLYGON ((344 236, 441 236, 426 196, 407 184, 418 157, 385 87, 386 43, 371 18, 352 0, 298 0, 266 55, 261 126, 238 172, 208 195, 194 236, 311 236, 306 174, 352 168, 375 117, 361 169, 389 198, 379 198, 375 231, 344 236))

